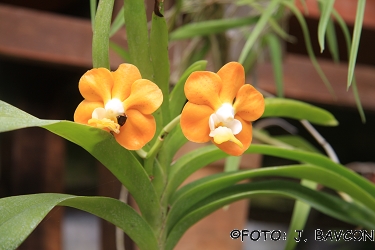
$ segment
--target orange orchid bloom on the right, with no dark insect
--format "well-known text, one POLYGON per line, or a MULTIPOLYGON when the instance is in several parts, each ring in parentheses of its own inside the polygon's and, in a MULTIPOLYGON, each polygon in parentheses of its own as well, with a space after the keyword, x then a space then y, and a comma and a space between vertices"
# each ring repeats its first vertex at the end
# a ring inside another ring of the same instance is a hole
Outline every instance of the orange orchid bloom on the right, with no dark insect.
POLYGON ((252 140, 252 121, 264 112, 264 98, 245 84, 241 64, 230 62, 217 73, 193 72, 185 83, 188 99, 181 129, 193 142, 212 141, 230 155, 241 155, 252 140))

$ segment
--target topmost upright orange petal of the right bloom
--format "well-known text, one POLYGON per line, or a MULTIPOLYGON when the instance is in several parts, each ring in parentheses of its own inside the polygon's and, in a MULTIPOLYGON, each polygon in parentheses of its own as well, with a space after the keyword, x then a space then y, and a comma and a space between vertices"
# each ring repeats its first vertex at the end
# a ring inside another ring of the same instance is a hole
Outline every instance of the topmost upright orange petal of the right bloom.
POLYGON ((238 62, 225 64, 217 74, 220 76, 223 86, 219 96, 222 102, 233 104, 238 90, 245 84, 245 70, 238 62))

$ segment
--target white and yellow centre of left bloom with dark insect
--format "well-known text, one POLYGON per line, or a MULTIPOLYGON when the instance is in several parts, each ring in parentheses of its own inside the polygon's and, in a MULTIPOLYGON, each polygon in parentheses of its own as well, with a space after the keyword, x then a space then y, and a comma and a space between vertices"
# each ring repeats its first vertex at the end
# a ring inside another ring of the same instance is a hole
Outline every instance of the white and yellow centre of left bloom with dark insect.
POLYGON ((107 128, 116 134, 120 133, 120 127, 126 122, 124 106, 122 102, 113 98, 106 103, 104 108, 96 108, 92 112, 92 118, 88 124, 97 128, 107 128))

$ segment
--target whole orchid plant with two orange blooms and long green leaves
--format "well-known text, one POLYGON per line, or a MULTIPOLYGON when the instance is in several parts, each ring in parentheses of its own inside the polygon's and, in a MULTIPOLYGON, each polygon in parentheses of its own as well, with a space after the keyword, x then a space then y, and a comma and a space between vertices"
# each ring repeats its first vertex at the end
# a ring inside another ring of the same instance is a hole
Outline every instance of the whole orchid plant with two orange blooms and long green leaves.
MULTIPOLYGON (((271 1, 271 5, 276 2, 282 1, 271 1)), ((215 73, 205 70, 205 61, 197 61, 169 91, 169 41, 162 1, 155 1, 150 32, 144 2, 125 1, 129 61, 111 71, 112 9, 113 0, 99 2, 93 23, 93 69, 78 83, 84 100, 78 104, 74 122, 38 119, 0 102, 0 131, 37 126, 83 147, 118 178, 139 212, 108 197, 49 193, 2 198, 1 249, 16 249, 55 206, 101 217, 144 250, 173 249, 186 230, 208 214, 259 195, 297 200, 290 224, 293 236, 297 236, 295 229, 303 228, 310 207, 356 226, 375 228, 374 184, 323 154, 298 149, 252 126, 266 117, 335 126, 332 114, 300 101, 264 98, 245 83, 239 62, 227 63, 215 73), (263 143, 251 144, 253 136, 263 143), (212 143, 174 159, 188 140, 212 143), (239 170, 231 161, 254 153, 300 164, 239 170), (231 171, 181 186, 195 171, 224 158, 234 165, 231 171), (269 176, 300 183, 264 179, 269 176), (252 182, 241 182, 248 179, 252 182), (345 195, 319 191, 318 184, 345 195)), ((286 249, 294 248, 293 236, 288 237, 286 249)))

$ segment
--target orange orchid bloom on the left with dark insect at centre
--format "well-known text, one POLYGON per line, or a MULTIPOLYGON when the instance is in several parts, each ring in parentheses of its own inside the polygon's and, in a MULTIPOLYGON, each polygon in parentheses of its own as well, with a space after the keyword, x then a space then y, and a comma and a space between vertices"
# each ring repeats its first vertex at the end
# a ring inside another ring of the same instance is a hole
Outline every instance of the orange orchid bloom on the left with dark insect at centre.
POLYGON ((111 132, 129 150, 141 149, 156 130, 152 113, 163 102, 159 87, 142 79, 138 68, 121 64, 111 72, 105 68, 87 71, 79 80, 84 100, 74 121, 111 132))

